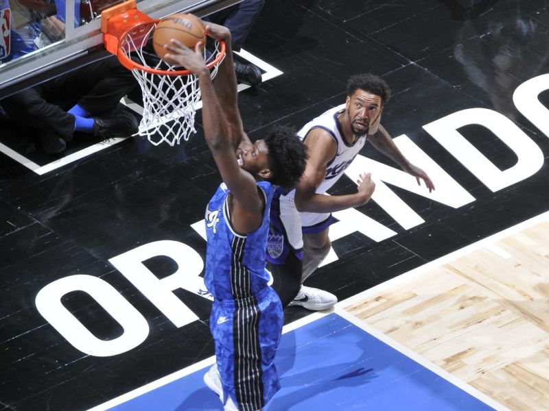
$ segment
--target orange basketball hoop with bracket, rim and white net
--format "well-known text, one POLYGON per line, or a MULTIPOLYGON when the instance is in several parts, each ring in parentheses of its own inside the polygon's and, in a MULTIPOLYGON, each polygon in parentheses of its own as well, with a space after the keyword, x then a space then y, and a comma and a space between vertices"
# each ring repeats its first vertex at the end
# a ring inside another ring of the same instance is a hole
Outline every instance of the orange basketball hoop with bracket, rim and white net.
MULTIPOLYGON (((200 101, 198 77, 188 70, 178 70, 157 58, 151 62, 144 48, 159 19, 153 19, 135 8, 135 0, 126 1, 102 12, 102 32, 106 49, 132 71, 143 94, 143 118, 139 136, 147 136, 153 145, 179 144, 196 133, 194 116, 200 101)), ((204 57, 211 78, 225 56, 225 43, 214 40, 214 50, 204 57)), ((154 54, 154 52, 153 52, 154 54)))

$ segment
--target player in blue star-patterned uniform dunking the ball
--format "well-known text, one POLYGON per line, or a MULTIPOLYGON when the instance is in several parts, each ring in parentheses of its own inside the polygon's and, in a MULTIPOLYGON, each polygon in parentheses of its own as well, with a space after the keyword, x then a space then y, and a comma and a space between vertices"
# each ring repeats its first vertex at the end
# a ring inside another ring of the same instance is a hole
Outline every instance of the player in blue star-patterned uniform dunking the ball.
POLYGON ((164 56, 199 79, 205 138, 223 179, 206 210, 205 284, 214 297, 216 365, 205 382, 225 410, 260 410, 280 388, 274 353, 283 325, 281 301, 265 271, 269 205, 276 186, 290 189, 299 181, 307 149, 287 127, 250 142, 237 106, 231 33, 206 24, 228 48, 213 82, 200 45, 193 51, 172 39, 164 56))

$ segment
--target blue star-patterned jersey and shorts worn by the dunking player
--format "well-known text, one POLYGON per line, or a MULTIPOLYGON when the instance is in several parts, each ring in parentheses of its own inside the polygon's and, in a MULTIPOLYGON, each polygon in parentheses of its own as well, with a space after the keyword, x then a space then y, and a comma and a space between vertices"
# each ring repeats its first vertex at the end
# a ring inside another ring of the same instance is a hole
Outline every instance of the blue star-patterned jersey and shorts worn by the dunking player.
POLYGON ((274 187, 258 182, 265 196, 263 221, 254 232, 237 234, 231 225, 229 190, 221 184, 206 209, 205 284, 213 295, 210 329, 215 342, 223 398, 240 410, 259 410, 280 388, 274 354, 284 314, 268 286, 265 247, 274 187))

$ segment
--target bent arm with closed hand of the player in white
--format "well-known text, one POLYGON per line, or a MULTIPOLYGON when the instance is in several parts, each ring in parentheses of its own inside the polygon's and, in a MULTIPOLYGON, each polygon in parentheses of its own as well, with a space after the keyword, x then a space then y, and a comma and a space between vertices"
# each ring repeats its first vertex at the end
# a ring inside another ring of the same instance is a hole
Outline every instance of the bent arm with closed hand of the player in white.
POLYGON ((326 177, 326 168, 329 161, 336 155, 336 143, 323 129, 312 129, 305 145, 309 153, 305 173, 296 186, 295 204, 299 211, 305 212, 334 212, 351 207, 362 206, 372 196, 375 184, 370 174, 360 175, 357 181, 358 190, 349 195, 317 194, 316 189, 326 177))

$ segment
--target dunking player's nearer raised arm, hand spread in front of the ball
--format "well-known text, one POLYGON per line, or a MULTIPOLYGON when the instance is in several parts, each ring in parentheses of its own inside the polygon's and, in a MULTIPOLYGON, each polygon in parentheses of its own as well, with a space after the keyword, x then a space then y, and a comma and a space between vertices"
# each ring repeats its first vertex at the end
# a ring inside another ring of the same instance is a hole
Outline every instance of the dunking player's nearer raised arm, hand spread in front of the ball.
MULTIPOLYGON (((239 208, 245 210, 245 212, 257 214, 257 211, 264 207, 264 203, 257 192, 253 175, 239 166, 235 154, 237 149, 235 142, 241 140, 240 130, 235 127, 234 121, 232 123, 228 121, 226 109, 220 104, 211 81, 210 71, 202 57, 200 42, 194 50, 191 50, 177 40, 172 39, 170 45, 166 45, 166 48, 170 50, 170 54, 164 56, 165 61, 184 66, 198 77, 202 94, 204 134, 223 182, 231 191, 239 208)), ((240 121, 240 116, 238 121, 240 121)), ((241 121, 240 124, 240 127, 242 127, 241 121)), ((261 216, 261 212, 257 215, 261 216)), ((257 225, 257 222, 250 221, 250 225, 254 225, 254 223, 257 225)))

